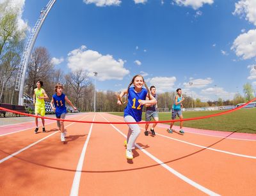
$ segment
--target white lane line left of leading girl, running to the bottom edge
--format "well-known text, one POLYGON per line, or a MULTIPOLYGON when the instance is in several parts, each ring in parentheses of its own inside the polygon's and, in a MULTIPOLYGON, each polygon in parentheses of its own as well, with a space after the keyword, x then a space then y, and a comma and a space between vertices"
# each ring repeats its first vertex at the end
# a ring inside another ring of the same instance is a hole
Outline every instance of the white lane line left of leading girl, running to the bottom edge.
MULTIPOLYGON (((92 120, 92 121, 94 121, 95 116, 96 116, 96 114, 94 114, 94 117, 93 117, 93 120, 92 120)), ((84 147, 83 147, 81 156, 80 156, 80 158, 79 158, 79 162, 78 162, 78 164, 77 164, 76 174, 75 174, 75 176, 74 176, 74 180, 73 180, 73 184, 72 184, 70 196, 78 195, 78 192, 79 192, 79 185, 80 185, 80 179, 81 179, 81 171, 82 171, 82 169, 83 169, 84 156, 85 156, 85 153, 86 153, 86 149, 87 149, 87 146, 88 146, 88 142, 89 142, 90 136, 91 136, 91 134, 92 134, 92 126, 93 126, 93 123, 91 124, 90 131, 89 131, 89 133, 88 133, 88 136, 87 136, 87 138, 86 138, 86 141, 84 142, 84 147)))

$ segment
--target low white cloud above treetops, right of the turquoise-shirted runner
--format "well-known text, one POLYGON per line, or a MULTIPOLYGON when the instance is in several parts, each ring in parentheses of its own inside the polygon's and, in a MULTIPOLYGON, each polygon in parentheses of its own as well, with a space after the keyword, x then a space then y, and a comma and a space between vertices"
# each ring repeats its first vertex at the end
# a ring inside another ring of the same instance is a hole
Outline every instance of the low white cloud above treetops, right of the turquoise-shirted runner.
POLYGON ((222 100, 232 100, 236 93, 230 93, 223 89, 223 87, 209 87, 207 89, 202 89, 201 94, 214 95, 215 100, 221 98, 222 100))

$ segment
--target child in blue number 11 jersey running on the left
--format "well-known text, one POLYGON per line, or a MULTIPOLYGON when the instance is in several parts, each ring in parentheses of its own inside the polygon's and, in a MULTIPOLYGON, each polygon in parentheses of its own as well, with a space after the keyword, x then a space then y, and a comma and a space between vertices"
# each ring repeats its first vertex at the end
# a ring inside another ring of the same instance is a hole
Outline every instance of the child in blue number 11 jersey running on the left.
MULTIPOLYGON (((63 85, 58 83, 55 86, 55 92, 52 96, 52 101, 51 101, 51 107, 52 110, 56 114, 56 118, 58 119, 65 119, 66 114, 67 114, 67 107, 65 105, 65 102, 67 102, 69 105, 73 107, 74 110, 77 110, 76 107, 68 100, 68 97, 62 93, 63 91, 63 85), (55 107, 53 107, 52 103, 54 103, 55 107)), ((60 128, 60 139, 61 142, 65 142, 65 137, 67 135, 67 132, 64 130, 64 122, 63 121, 57 121, 58 128, 60 128)))

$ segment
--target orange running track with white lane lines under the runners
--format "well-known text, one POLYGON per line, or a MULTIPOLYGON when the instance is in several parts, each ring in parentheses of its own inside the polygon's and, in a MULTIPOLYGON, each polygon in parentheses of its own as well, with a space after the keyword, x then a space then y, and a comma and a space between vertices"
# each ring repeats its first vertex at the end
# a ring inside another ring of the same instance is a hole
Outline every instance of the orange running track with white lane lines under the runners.
MULTIPOLYGON (((124 121, 104 113, 70 116, 84 121, 124 121)), ((255 195, 256 140, 228 135, 141 135, 133 161, 125 158, 126 124, 56 122, 47 133, 34 124, 0 126, 1 195, 255 195)), ((254 137, 255 138, 255 137, 254 137)))

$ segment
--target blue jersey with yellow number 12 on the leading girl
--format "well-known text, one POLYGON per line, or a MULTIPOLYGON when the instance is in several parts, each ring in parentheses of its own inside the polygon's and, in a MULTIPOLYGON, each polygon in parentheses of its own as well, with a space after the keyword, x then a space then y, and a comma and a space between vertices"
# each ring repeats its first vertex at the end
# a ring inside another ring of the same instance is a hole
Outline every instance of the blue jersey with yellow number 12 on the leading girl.
POLYGON ((147 89, 142 88, 140 93, 136 93, 134 87, 130 87, 128 90, 128 103, 124 109, 124 117, 132 116, 136 122, 141 121, 142 108, 138 100, 146 100, 147 89))

